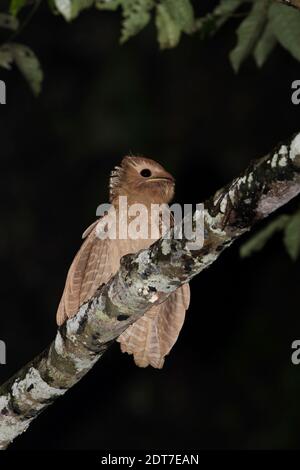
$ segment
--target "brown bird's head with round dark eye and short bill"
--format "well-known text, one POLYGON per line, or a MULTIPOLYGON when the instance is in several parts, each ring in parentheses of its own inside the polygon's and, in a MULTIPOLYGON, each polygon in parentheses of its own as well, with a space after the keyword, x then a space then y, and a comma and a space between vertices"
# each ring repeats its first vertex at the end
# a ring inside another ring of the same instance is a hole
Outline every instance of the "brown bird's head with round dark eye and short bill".
POLYGON ((110 201, 127 196, 132 202, 168 204, 175 180, 159 163, 145 157, 124 157, 110 177, 110 201))

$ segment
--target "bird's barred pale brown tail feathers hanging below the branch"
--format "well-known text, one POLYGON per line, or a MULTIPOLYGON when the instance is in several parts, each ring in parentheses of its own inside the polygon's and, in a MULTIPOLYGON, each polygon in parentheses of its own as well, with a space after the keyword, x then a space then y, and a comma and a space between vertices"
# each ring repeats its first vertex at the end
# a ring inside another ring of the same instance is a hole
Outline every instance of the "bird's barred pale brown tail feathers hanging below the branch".
POLYGON ((139 367, 161 369, 178 338, 189 302, 190 287, 184 284, 119 336, 122 352, 133 354, 139 367))

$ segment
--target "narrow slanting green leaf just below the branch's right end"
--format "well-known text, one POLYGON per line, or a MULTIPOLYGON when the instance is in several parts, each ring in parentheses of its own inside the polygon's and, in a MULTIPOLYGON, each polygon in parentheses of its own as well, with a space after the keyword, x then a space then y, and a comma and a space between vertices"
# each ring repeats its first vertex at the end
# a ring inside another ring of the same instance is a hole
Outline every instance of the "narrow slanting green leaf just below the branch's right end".
POLYGON ((273 220, 273 222, 257 232, 253 237, 250 238, 250 240, 241 246, 240 256, 242 258, 247 258, 253 253, 262 250, 276 232, 284 230, 289 220, 290 217, 288 215, 281 215, 277 217, 277 219, 273 220))

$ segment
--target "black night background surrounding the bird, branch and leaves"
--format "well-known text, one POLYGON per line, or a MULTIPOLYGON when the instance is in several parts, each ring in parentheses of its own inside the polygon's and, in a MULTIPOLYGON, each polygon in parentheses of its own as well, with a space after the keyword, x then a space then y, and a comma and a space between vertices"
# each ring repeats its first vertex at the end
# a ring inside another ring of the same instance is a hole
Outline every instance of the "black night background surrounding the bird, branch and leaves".
MULTIPOLYGON (((121 47, 116 13, 66 24, 42 8, 18 39, 45 82, 35 99, 17 71, 0 71, 1 381, 53 339, 67 269, 122 156, 157 159, 176 201, 196 203, 299 131, 299 63, 278 47, 261 71, 249 60, 236 76, 237 24, 160 52, 153 25, 121 47)), ((247 260, 235 244, 191 283, 163 370, 113 345, 10 449, 299 448, 298 288, 280 236, 247 260)))

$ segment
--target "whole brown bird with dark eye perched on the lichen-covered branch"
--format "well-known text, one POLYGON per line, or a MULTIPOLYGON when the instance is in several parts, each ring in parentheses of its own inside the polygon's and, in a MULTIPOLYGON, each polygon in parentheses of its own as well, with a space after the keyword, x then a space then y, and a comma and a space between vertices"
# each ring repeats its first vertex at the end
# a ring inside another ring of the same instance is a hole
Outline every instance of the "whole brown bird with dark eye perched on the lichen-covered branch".
MULTIPOLYGON (((125 157, 111 173, 112 209, 119 215, 120 196, 127 197, 129 209, 133 204, 143 204, 149 213, 146 223, 150 228, 153 223, 150 217, 151 204, 168 204, 174 196, 174 187, 174 178, 159 163, 144 157, 125 157)), ((109 281, 118 271, 122 256, 148 248, 162 234, 159 220, 155 222, 159 225, 156 237, 122 239, 118 237, 117 227, 116 239, 103 239, 99 237, 99 227, 101 225, 103 228, 103 221, 107 217, 109 214, 96 220, 83 234, 85 241, 69 269, 58 307, 58 325, 74 316, 99 286, 109 281)), ((128 217, 128 223, 131 219, 128 217)), ((117 339, 122 352, 133 354, 135 363, 140 367, 151 365, 162 368, 164 358, 182 328, 189 300, 189 285, 184 284, 166 300, 150 308, 117 339)))

